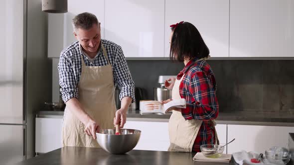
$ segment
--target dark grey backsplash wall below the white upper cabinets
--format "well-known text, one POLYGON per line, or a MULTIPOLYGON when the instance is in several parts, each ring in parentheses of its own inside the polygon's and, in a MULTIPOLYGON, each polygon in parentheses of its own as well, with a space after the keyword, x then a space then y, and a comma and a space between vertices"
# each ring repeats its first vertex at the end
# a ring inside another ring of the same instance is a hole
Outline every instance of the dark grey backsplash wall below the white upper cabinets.
MULTIPOLYGON (((294 60, 208 60, 217 81, 220 111, 294 112, 294 60)), ((159 75, 177 75, 183 63, 128 60, 136 87, 153 99, 159 75)))

